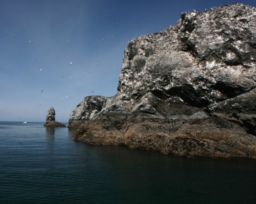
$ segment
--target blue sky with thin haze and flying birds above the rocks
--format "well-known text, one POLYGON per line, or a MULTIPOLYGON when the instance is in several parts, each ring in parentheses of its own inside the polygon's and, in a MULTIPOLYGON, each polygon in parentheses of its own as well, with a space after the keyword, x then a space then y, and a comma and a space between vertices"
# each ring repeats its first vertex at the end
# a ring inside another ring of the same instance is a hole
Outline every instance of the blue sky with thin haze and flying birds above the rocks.
POLYGON ((0 120, 68 122, 85 96, 114 96, 133 38, 175 25, 183 11, 239 2, 0 0, 0 120))

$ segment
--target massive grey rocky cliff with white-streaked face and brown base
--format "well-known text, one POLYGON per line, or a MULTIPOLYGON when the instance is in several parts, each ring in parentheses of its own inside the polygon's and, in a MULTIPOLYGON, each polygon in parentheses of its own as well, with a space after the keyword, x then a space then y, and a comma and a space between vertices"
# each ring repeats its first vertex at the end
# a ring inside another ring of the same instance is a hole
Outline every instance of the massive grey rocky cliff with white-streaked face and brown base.
POLYGON ((84 98, 68 126, 95 145, 256 159, 256 9, 182 13, 130 41, 117 94, 84 98))

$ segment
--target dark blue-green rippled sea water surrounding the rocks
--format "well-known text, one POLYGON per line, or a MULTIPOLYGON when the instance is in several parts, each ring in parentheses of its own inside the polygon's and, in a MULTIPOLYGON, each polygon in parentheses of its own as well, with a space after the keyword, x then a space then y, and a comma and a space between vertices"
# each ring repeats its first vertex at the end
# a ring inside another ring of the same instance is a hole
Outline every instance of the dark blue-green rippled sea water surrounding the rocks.
POLYGON ((0 122, 0 203, 256 203, 256 161, 188 159, 74 142, 0 122))

